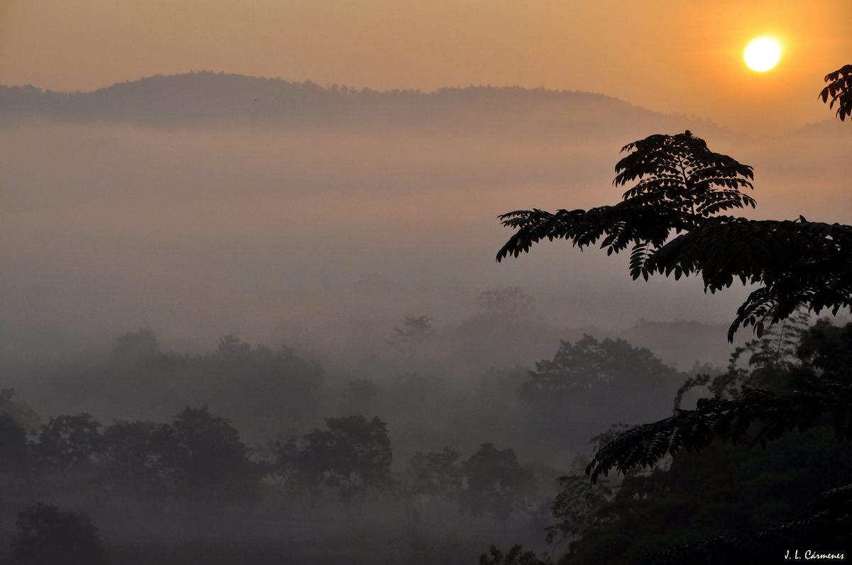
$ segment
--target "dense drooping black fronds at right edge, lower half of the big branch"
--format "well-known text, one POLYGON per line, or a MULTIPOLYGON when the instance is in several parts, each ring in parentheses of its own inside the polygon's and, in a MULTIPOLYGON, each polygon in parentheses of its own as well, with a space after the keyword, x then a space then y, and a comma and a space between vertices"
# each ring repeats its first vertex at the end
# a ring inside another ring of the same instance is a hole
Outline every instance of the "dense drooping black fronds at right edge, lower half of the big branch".
MULTIPOLYGON (((636 265, 644 277, 700 274, 705 291, 735 279, 762 283, 737 310, 728 340, 740 326, 763 333, 763 321, 780 322, 807 305, 819 314, 852 306, 852 226, 798 220, 717 217, 674 238, 636 265)), ((634 276, 636 277, 636 275, 634 276)))

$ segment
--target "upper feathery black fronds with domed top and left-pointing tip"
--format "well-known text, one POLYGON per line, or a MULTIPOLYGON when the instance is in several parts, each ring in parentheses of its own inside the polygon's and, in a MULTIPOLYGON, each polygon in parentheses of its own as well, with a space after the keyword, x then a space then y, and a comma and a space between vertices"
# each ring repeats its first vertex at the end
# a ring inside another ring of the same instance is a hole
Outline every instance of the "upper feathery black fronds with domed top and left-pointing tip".
POLYGON ((751 197, 740 191, 752 187, 751 167, 710 151, 704 140, 688 130, 651 135, 622 151, 630 154, 616 165, 613 184, 637 181, 622 202, 588 211, 563 209, 550 214, 533 209, 503 214, 499 217, 503 225, 518 231, 500 249, 497 260, 517 257, 544 238, 570 239, 581 249, 602 239, 601 248, 607 248, 607 254, 619 253, 633 243, 633 253, 642 257, 662 246, 672 230, 690 231, 721 210, 754 206, 751 197))

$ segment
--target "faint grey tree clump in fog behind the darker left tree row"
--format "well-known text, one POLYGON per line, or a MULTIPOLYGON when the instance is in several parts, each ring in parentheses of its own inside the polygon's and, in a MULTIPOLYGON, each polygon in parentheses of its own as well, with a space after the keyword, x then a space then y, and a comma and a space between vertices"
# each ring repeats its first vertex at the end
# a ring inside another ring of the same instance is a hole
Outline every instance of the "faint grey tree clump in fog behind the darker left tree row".
POLYGON ((140 330, 118 336, 101 368, 69 379, 78 402, 96 396, 118 414, 141 407, 157 414, 164 406, 181 408, 176 399, 196 398, 273 431, 316 416, 323 370, 290 348, 252 347, 233 335, 223 336, 213 353, 178 355, 161 351, 153 332, 140 330))

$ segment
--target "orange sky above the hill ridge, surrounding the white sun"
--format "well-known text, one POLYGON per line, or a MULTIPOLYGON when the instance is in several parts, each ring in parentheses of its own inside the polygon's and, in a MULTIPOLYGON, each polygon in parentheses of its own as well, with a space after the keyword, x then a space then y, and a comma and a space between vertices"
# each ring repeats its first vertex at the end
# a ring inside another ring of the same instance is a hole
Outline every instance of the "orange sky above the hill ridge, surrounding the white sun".
POLYGON ((601 92, 752 134, 830 114, 849 0, 0 0, 0 83, 92 90, 186 71, 354 87, 601 92), (742 61, 776 37, 774 71, 742 61))

